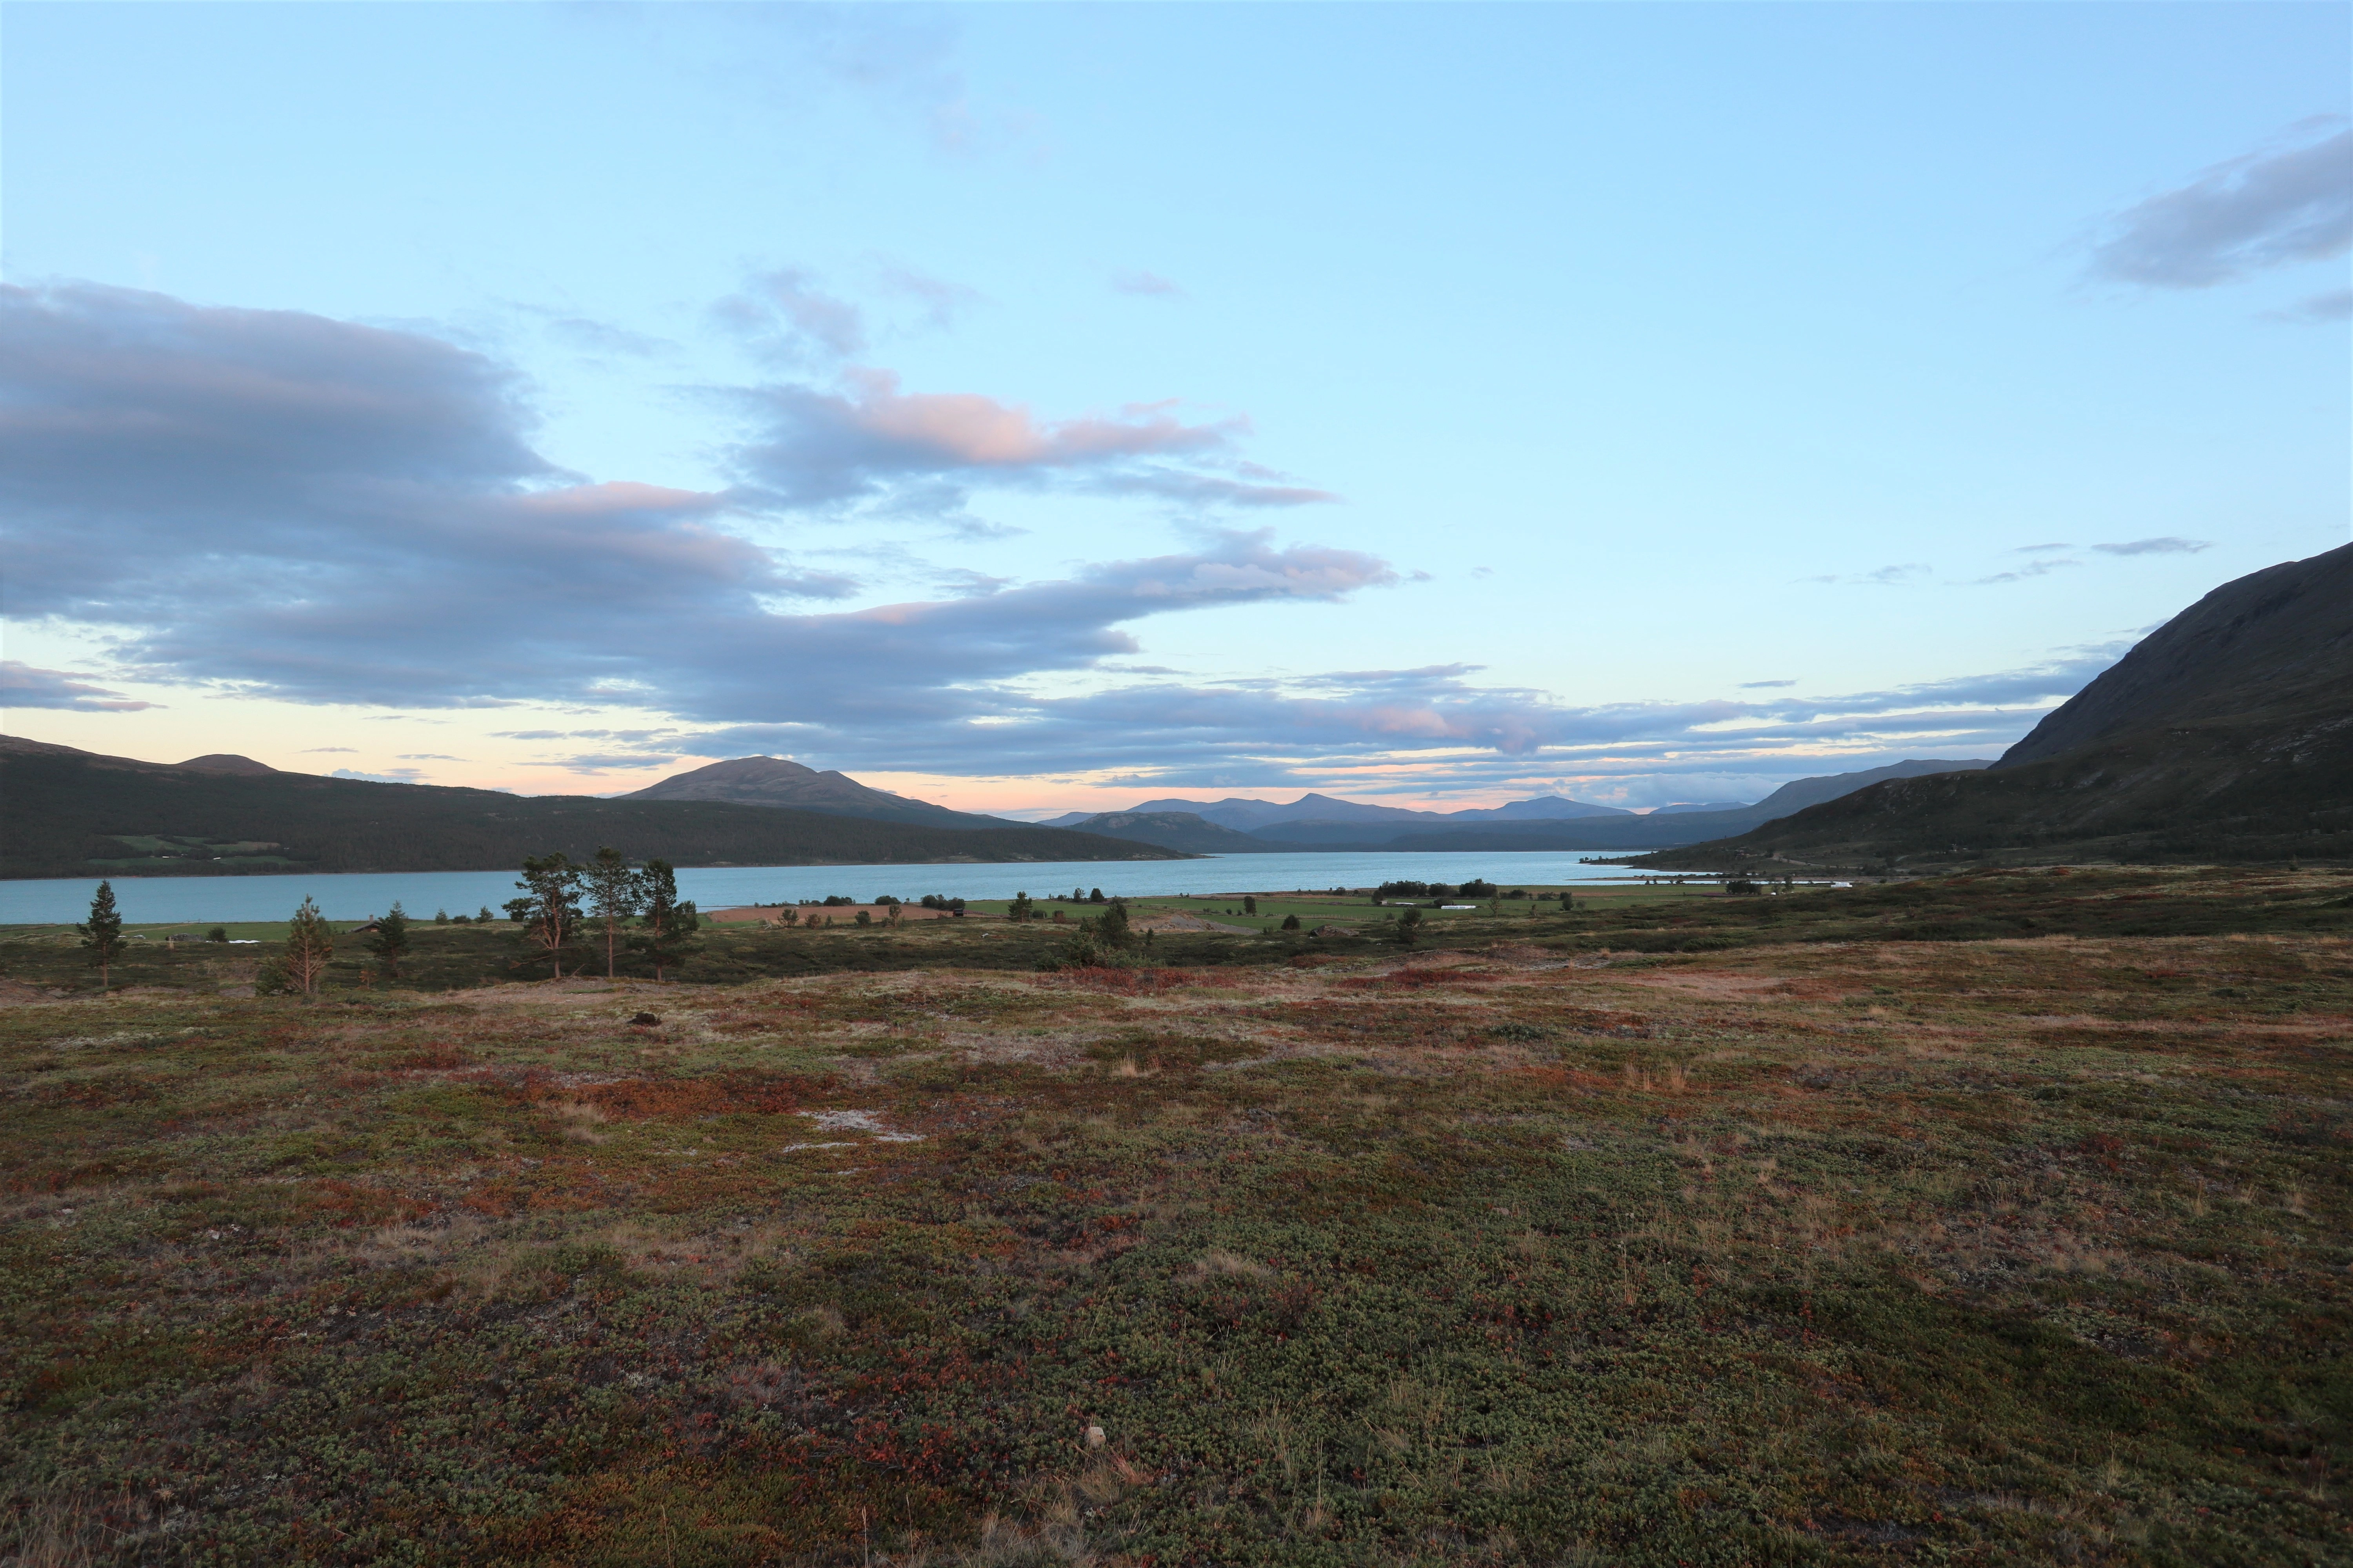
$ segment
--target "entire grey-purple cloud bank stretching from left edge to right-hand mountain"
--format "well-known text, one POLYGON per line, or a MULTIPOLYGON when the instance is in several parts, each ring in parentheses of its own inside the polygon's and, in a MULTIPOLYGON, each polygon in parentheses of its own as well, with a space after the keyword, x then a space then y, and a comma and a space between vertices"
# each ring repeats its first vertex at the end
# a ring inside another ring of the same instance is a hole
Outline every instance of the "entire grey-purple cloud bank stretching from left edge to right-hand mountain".
MULTIPOLYGON (((1047 421, 887 378, 809 397, 814 411, 795 404, 802 444, 767 470, 802 498, 974 475, 1096 494, 1273 484, 1233 458, 1235 421, 1191 423, 1165 404, 1047 421), (1205 458, 1228 470, 1202 475, 1205 458)), ((118 661, 155 679, 398 708, 400 722, 525 703, 664 715, 508 731, 588 743, 565 764, 581 769, 800 752, 918 773, 1320 785, 1400 759, 1478 785, 1539 755, 1628 776, 1821 771, 1824 752, 1911 745, 1974 755, 1958 748, 2014 738, 2033 719, 2021 705, 2113 658, 1845 698, 1760 686, 1755 701, 1598 708, 1482 686, 1452 663, 1186 682, 1118 668, 1141 651, 1136 623, 1348 599, 1395 585, 1398 569, 1271 529, 1200 529, 1174 552, 1047 581, 962 576, 939 597, 849 609, 847 578, 739 531, 746 494, 591 482, 539 458, 529 433, 504 367, 421 334, 118 289, 0 289, 7 614, 108 630, 118 661)))

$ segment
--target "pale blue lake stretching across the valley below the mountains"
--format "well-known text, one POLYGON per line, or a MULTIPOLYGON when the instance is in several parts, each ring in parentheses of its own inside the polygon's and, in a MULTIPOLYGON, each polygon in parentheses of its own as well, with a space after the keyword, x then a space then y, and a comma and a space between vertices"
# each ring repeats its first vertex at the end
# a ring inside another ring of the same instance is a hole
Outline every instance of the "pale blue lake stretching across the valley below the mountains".
MULTIPOLYGON (((1598 851, 1586 851, 1598 853, 1598 851)), ((1031 860, 1024 865, 708 865, 680 867, 678 891, 706 910, 791 903, 849 893, 920 898, 1012 898, 1073 886, 1106 893, 1259 893, 1287 889, 1377 886, 1391 879, 1499 886, 1624 882, 1619 865, 1579 865, 1577 851, 1506 853, 1297 853, 1209 856, 1205 860, 1031 860)), ((96 877, 0 882, 0 924, 78 922, 89 914, 96 877)), ((409 914, 473 914, 515 896, 515 872, 353 872, 296 877, 115 877, 115 903, 129 922, 285 919, 304 898, 327 919, 384 914, 398 898, 409 914)))

